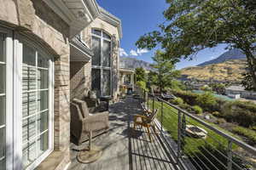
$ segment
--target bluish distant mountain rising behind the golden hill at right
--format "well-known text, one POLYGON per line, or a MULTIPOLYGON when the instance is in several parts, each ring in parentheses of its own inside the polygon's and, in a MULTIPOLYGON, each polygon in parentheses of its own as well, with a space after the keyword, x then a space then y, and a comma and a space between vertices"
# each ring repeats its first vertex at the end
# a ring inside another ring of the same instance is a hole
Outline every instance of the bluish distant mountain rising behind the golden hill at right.
POLYGON ((218 63, 222 63, 229 59, 245 59, 245 58, 246 58, 245 54, 242 54, 240 49, 234 48, 234 49, 231 49, 230 51, 225 52, 224 54, 221 54, 216 59, 206 61, 197 66, 218 64, 218 63))

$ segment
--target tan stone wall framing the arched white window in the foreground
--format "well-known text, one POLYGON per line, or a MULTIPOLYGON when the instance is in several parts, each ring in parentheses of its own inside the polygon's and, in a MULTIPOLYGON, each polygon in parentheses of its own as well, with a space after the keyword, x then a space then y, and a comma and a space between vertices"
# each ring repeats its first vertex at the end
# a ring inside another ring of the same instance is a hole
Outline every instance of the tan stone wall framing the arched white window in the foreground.
POLYGON ((69 26, 41 0, 0 0, 0 3, 0 23, 3 26, 36 38, 35 42, 40 42, 55 54, 54 148, 63 156, 61 165, 55 167, 63 169, 70 161, 69 26))

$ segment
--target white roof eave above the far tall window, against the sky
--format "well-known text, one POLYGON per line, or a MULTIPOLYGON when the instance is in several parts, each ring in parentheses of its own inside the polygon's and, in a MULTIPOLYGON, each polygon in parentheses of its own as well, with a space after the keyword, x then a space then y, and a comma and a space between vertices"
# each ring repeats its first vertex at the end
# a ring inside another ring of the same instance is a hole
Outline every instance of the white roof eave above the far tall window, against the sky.
POLYGON ((123 32, 122 32, 121 20, 119 20, 119 18, 117 18, 113 14, 110 14, 107 10, 105 10, 102 7, 99 7, 99 10, 100 10, 99 18, 101 20, 108 22, 110 25, 117 27, 119 31, 119 38, 122 38, 123 32))

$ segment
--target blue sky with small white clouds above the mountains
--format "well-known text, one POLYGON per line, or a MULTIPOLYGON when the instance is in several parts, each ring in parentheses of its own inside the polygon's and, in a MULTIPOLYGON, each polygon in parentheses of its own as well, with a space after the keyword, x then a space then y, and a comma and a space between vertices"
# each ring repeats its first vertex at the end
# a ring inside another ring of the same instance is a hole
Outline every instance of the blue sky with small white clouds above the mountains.
MULTIPOLYGON (((143 34, 158 29, 158 25, 165 20, 162 13, 168 8, 166 0, 97 0, 97 3, 122 20, 121 54, 152 62, 151 57, 154 56, 157 48, 151 51, 138 50, 135 42, 143 34)), ((214 59, 225 52, 225 47, 225 45, 219 45, 216 48, 204 49, 190 61, 182 59, 177 63, 177 69, 214 59)))

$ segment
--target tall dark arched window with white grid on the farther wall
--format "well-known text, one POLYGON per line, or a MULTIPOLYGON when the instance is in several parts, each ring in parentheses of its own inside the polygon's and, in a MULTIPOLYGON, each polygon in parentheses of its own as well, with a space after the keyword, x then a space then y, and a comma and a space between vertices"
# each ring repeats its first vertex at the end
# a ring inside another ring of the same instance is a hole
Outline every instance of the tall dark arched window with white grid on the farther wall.
POLYGON ((111 95, 111 37, 104 31, 92 29, 91 88, 98 95, 111 95))

